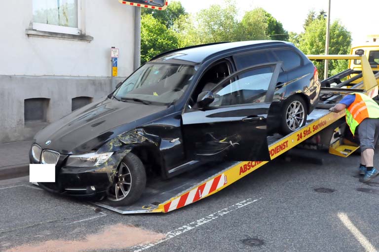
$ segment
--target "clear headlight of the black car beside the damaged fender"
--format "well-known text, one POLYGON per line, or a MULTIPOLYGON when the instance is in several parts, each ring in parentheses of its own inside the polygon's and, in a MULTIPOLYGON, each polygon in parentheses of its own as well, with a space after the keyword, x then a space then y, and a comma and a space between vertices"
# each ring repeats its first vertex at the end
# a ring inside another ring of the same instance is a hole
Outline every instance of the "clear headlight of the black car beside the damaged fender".
POLYGON ((88 152, 79 155, 70 155, 67 159, 66 166, 70 167, 94 167, 104 164, 113 152, 96 153, 88 152))

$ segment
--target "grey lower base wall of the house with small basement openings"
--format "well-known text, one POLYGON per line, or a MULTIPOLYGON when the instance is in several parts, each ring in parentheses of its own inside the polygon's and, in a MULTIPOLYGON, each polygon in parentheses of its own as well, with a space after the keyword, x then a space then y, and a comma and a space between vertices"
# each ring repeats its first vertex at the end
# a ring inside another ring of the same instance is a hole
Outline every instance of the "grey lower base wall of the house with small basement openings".
POLYGON ((0 142, 32 139, 39 129, 71 113, 72 99, 111 93, 109 78, 0 76, 0 142), (24 100, 50 99, 46 123, 24 122, 24 100))

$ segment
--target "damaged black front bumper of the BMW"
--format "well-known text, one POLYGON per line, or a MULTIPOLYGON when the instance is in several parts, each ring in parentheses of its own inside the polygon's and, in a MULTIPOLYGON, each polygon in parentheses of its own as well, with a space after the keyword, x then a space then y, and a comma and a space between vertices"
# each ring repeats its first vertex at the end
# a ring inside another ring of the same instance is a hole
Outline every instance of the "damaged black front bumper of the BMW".
MULTIPOLYGON (((40 182, 43 189, 57 194, 69 196, 103 196, 109 186, 113 184, 114 174, 120 162, 121 154, 114 155, 98 167, 75 168, 65 166, 69 155, 61 154, 55 166, 55 182, 40 182)), ((38 164, 29 152, 31 164, 38 164)))

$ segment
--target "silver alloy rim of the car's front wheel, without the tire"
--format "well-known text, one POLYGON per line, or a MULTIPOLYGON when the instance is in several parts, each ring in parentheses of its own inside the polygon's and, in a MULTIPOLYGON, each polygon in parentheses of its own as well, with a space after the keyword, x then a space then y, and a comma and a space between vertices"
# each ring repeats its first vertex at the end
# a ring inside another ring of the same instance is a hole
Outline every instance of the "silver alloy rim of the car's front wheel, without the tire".
POLYGON ((120 201, 125 199, 132 186, 132 176, 128 166, 121 162, 118 171, 114 175, 114 184, 108 189, 108 199, 120 201))

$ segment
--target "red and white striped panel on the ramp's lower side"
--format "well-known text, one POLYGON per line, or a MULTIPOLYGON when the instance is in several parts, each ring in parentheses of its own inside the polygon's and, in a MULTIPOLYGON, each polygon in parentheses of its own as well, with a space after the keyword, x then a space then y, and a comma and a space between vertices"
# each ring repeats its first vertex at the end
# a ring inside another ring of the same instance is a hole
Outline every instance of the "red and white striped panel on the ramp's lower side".
POLYGON ((193 202, 196 202, 206 197, 207 195, 213 193, 214 191, 226 184, 227 176, 225 176, 224 173, 220 174, 164 205, 164 212, 176 210, 184 206, 187 206, 193 202))

